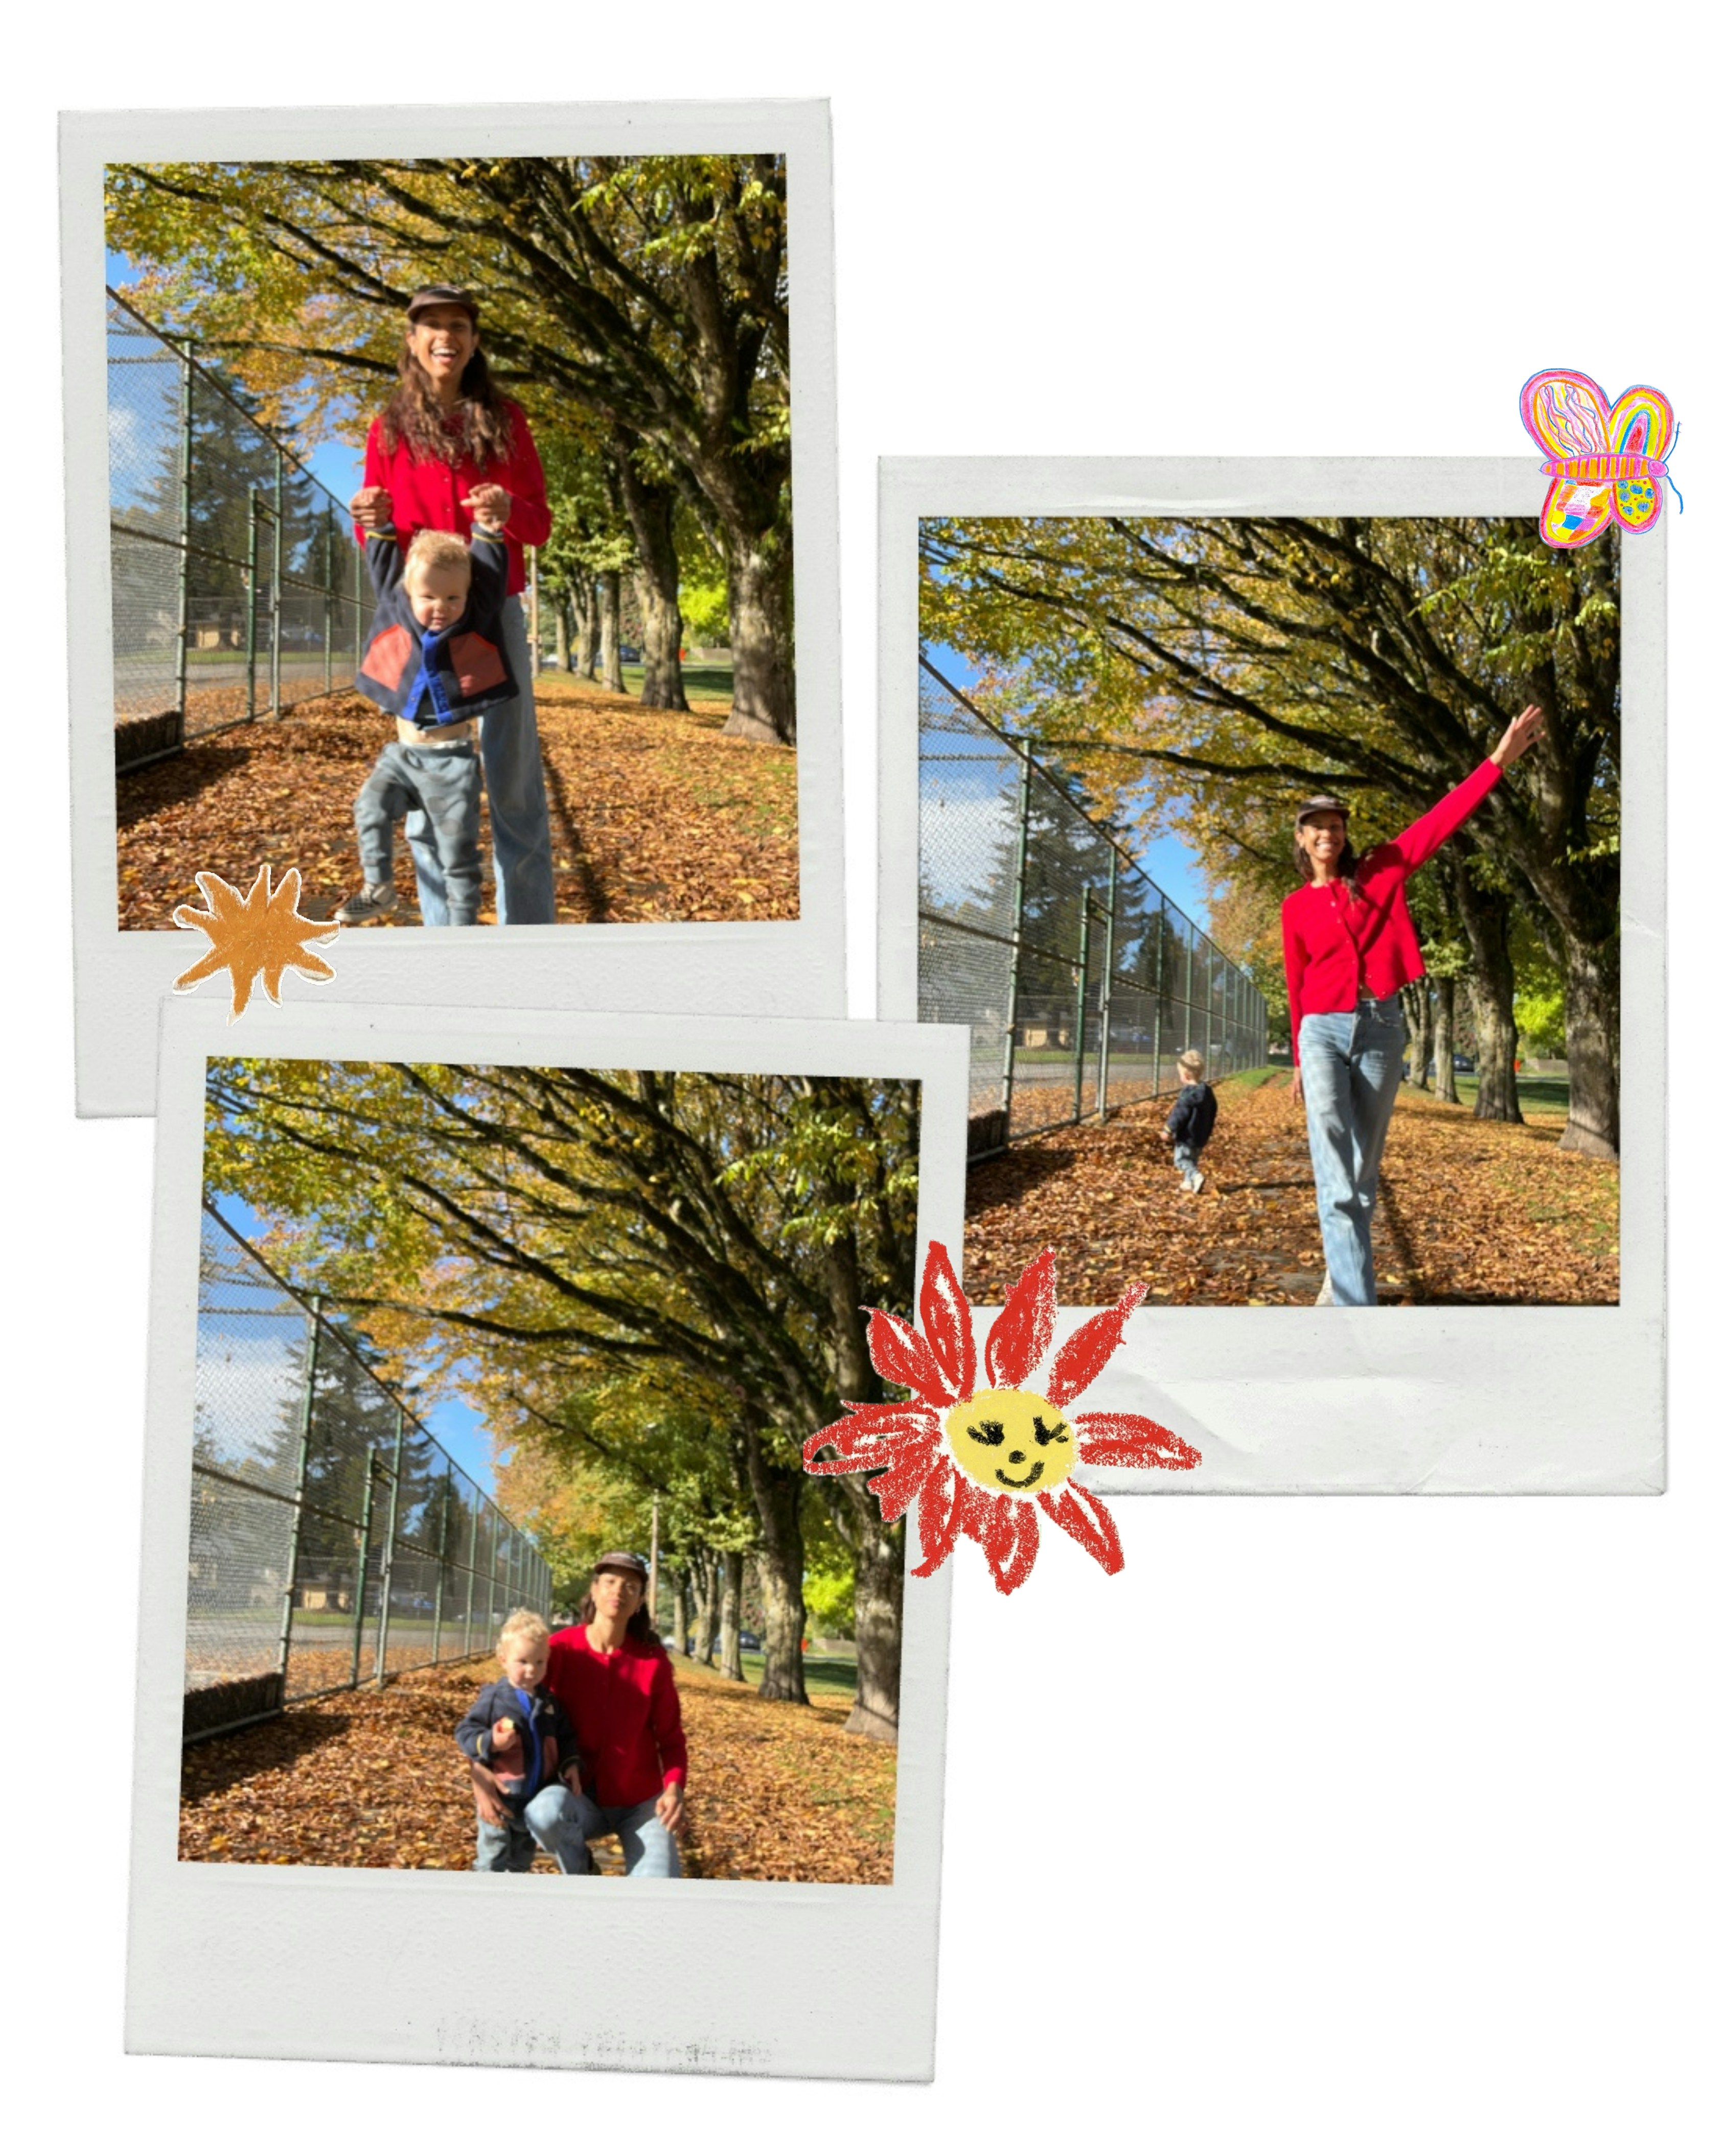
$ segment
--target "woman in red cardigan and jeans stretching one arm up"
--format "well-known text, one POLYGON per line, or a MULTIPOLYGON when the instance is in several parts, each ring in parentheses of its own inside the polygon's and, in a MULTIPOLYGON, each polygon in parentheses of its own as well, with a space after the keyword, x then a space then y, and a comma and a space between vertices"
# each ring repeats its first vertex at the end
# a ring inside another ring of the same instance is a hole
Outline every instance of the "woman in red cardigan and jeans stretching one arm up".
POLYGON ((1320 1302, 1378 1300, 1371 1212, 1402 1080, 1399 990, 1425 972, 1404 886, 1544 731, 1542 714, 1529 705, 1471 778, 1399 839, 1365 856, 1348 843, 1348 811, 1339 800, 1317 796, 1294 817, 1294 860, 1305 884, 1283 901, 1281 949, 1294 1100, 1307 1110, 1328 1268, 1320 1302))

